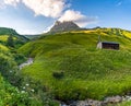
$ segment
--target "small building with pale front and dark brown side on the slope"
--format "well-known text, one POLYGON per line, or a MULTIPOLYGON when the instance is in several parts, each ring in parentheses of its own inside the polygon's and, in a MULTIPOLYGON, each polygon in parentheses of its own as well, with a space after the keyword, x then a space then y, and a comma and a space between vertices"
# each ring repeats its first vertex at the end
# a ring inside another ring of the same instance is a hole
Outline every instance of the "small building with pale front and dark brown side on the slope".
POLYGON ((99 49, 116 49, 119 50, 119 43, 115 42, 98 42, 97 48, 99 49))

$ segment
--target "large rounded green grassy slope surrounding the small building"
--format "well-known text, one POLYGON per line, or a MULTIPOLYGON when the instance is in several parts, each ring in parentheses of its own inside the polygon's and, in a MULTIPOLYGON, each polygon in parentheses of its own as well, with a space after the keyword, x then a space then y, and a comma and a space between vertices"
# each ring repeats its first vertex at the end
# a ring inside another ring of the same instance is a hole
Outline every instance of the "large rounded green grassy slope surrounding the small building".
POLYGON ((103 28, 41 37, 19 49, 35 57, 23 74, 41 81, 63 101, 123 94, 131 89, 130 35, 103 28), (97 50, 99 34, 103 40, 120 43, 120 50, 97 50), (56 79, 53 73, 63 76, 56 79))

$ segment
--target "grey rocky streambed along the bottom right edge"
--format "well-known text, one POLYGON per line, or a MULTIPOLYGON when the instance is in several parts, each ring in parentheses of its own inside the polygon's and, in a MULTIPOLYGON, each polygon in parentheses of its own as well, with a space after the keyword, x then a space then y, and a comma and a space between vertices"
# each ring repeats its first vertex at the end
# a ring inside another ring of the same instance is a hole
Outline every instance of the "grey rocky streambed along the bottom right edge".
POLYGON ((68 104, 61 103, 60 106, 120 106, 120 103, 130 102, 131 95, 106 97, 104 101, 71 101, 68 104))

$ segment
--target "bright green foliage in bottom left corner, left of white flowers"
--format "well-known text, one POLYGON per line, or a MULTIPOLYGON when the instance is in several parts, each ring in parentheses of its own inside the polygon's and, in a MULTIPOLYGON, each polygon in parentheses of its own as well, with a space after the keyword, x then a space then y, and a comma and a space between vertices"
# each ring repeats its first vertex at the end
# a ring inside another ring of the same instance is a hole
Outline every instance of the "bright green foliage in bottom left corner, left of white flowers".
POLYGON ((22 106, 22 103, 19 101, 19 97, 21 97, 19 90, 5 82, 1 75, 0 89, 0 106, 13 106, 15 103, 19 103, 19 106, 22 106))

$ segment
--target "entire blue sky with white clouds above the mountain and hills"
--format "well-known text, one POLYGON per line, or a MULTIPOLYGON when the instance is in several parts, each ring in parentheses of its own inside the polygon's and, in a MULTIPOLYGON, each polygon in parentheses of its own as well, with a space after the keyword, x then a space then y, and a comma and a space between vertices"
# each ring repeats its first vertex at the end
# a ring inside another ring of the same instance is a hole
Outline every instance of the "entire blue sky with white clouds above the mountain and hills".
POLYGON ((40 34, 55 21, 131 30, 131 0, 0 0, 0 26, 40 34))

